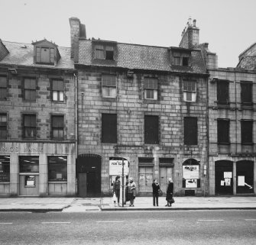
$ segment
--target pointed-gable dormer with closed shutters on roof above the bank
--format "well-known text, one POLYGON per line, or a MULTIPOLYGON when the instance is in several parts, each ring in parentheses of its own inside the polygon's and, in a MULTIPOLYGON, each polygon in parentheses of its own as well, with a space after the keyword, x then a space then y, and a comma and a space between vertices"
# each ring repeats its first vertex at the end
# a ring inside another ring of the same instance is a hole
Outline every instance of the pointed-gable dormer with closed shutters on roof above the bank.
POLYGON ((60 60, 60 53, 56 44, 46 39, 33 43, 34 63, 57 66, 60 60))

